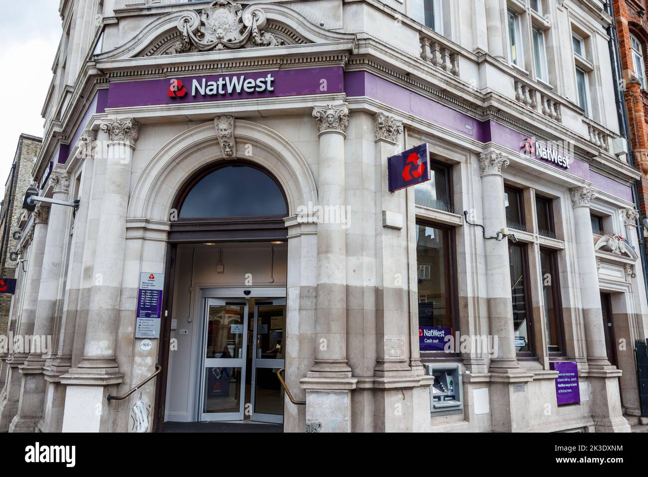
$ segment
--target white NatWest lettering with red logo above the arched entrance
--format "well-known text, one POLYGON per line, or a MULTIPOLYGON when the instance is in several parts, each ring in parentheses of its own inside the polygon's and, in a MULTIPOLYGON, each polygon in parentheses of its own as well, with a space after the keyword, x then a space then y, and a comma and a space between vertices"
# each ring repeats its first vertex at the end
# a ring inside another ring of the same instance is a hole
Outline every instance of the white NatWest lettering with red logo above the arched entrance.
MULTIPOLYGON (((216 81, 207 81, 207 79, 192 79, 191 80, 191 96, 225 96, 232 94, 246 93, 262 93, 274 91, 272 82, 274 81, 272 73, 268 73, 266 77, 262 78, 247 78, 245 75, 220 77, 216 81)), ((187 95, 187 88, 182 80, 173 79, 168 88, 168 97, 170 98, 183 98, 187 95)))

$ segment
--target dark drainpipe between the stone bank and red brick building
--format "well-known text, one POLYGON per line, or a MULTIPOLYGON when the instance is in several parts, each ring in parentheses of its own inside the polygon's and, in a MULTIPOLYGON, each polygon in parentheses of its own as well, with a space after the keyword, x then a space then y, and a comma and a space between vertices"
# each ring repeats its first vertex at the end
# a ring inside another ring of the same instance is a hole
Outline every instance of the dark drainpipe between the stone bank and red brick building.
MULTIPOLYGON (((607 10, 610 17, 612 17, 612 25, 607 28, 608 36, 610 40, 608 41, 608 46, 610 49, 610 62, 612 64, 612 80, 614 81, 614 99, 616 101, 616 114, 619 119, 619 128, 621 129, 621 136, 625 139, 628 149, 628 164, 634 165, 634 158, 632 157, 632 147, 630 142, 630 127, 628 123, 628 114, 625 109, 625 100, 623 98, 623 93, 621 92, 621 55, 619 55, 619 38, 616 31, 616 21, 614 20, 614 10, 612 9, 612 2, 607 1, 605 3, 605 9, 607 10)), ((632 201, 637 208, 639 207, 639 193, 637 190, 637 182, 632 183, 632 201)), ((648 297, 648 256, 646 254, 646 243, 643 239, 643 220, 640 216, 639 226, 637 227, 637 235, 639 241, 639 255, 642 258, 642 273, 643 273, 643 284, 645 286, 646 297, 648 297)))

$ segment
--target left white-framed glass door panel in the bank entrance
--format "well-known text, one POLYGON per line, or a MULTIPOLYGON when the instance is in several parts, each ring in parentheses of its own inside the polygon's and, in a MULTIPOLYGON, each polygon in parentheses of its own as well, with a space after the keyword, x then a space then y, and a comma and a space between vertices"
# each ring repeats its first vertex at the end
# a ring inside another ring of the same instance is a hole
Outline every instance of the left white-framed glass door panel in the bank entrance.
POLYGON ((206 299, 201 421, 243 419, 247 317, 248 300, 206 299))

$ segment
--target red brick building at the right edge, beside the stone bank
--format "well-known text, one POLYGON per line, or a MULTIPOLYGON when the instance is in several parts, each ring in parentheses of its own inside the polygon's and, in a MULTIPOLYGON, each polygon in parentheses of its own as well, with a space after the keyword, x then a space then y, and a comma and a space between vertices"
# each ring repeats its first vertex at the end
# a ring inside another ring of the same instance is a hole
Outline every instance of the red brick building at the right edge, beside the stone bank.
POLYGON ((634 162, 642 170, 640 214, 648 215, 648 12, 645 0, 613 0, 634 162))

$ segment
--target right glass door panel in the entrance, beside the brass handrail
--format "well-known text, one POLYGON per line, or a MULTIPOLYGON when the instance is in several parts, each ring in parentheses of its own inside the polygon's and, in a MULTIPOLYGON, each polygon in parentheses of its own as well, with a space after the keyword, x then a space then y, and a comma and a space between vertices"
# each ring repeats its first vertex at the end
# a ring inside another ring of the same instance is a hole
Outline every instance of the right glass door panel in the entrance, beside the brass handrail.
POLYGON ((276 372, 285 363, 286 299, 257 299, 254 305, 250 419, 281 423, 284 390, 276 372))

